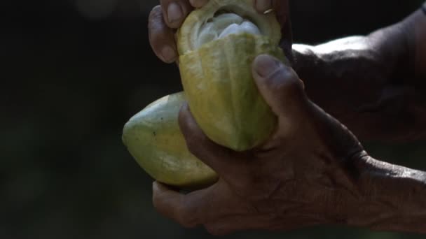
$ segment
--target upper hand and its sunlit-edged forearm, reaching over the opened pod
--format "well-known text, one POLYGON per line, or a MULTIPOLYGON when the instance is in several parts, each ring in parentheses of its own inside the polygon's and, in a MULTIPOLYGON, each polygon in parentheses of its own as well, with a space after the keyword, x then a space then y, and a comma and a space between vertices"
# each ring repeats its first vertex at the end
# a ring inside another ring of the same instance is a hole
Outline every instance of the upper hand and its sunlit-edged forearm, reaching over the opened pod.
MULTIPOLYGON (((194 8, 207 1, 163 0, 153 8, 149 15, 149 41, 160 59, 167 63, 177 61, 174 32, 194 8)), ((291 49, 289 1, 257 0, 254 5, 259 14, 270 8, 277 13, 282 25, 281 46, 305 82, 310 99, 347 125, 358 138, 406 141, 426 137, 422 127, 426 120, 422 103, 425 71, 420 71, 425 68, 425 57, 418 54, 424 52, 426 36, 426 17, 421 10, 368 36, 291 49)))

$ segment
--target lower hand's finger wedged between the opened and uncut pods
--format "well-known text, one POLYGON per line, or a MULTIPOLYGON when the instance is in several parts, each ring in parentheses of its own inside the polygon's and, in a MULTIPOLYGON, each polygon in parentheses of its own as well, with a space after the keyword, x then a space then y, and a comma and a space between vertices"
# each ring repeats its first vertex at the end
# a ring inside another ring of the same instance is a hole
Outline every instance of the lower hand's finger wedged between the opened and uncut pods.
POLYGON ((244 172, 240 154, 207 138, 195 122, 187 103, 180 110, 179 126, 184 134, 188 150, 221 177, 231 180, 231 177, 244 172))

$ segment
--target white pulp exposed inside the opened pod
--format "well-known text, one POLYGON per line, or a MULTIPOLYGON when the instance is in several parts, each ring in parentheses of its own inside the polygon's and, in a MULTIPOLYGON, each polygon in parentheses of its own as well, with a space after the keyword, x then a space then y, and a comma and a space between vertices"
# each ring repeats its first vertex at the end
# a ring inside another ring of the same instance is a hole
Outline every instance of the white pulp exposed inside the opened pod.
POLYGON ((225 38, 230 34, 249 33, 260 35, 261 31, 253 22, 240 17, 235 13, 224 13, 212 18, 202 25, 195 45, 199 48, 205 43, 225 38))

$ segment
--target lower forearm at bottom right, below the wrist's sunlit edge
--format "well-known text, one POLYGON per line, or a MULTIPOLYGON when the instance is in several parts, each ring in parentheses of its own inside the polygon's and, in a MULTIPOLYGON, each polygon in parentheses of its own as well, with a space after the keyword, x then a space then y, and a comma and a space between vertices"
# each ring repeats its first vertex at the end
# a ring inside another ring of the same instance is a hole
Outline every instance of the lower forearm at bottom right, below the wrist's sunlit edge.
POLYGON ((426 233, 426 173, 366 157, 348 224, 426 233))

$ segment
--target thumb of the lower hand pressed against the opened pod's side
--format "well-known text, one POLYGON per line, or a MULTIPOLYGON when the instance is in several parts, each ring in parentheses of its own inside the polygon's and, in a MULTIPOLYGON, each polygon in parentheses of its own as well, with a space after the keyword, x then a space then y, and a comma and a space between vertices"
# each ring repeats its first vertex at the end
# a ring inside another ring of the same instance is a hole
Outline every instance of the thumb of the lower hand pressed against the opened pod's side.
POLYGON ((253 62, 259 92, 278 117, 300 115, 308 99, 296 72, 275 57, 259 55, 253 62))

